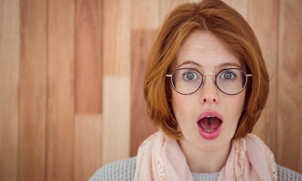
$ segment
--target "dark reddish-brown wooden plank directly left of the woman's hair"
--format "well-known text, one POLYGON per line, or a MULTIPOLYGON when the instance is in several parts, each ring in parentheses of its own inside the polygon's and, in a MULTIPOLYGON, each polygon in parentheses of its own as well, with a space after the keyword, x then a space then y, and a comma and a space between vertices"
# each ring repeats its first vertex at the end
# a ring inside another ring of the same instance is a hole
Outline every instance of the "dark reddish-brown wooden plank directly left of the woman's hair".
POLYGON ((132 30, 131 62, 131 157, 140 144, 156 131, 147 114, 143 85, 147 57, 157 36, 152 29, 132 30))

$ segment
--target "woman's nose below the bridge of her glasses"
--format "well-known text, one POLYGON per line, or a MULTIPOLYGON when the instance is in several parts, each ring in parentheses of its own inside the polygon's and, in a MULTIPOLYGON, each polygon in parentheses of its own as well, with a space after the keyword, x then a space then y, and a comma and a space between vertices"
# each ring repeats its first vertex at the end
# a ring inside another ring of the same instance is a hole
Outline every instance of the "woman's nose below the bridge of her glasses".
POLYGON ((215 75, 214 74, 204 74, 203 82, 201 85, 201 103, 218 103, 218 88, 215 84, 215 75), (212 76, 211 76, 212 75, 212 76))

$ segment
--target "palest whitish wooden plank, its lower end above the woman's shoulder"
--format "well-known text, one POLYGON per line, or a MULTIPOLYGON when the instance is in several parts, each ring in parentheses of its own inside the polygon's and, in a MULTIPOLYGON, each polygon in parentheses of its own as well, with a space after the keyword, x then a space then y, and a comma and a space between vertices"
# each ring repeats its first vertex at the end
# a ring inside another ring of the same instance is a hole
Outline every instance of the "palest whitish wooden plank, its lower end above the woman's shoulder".
POLYGON ((130 78, 104 76, 102 165, 130 156, 130 78))

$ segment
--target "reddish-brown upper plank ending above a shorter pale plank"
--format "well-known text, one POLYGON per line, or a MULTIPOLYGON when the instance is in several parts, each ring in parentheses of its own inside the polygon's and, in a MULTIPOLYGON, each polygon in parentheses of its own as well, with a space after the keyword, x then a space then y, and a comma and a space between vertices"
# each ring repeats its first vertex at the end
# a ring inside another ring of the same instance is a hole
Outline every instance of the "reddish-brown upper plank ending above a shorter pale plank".
POLYGON ((76 113, 101 113, 101 1, 76 1, 76 113))

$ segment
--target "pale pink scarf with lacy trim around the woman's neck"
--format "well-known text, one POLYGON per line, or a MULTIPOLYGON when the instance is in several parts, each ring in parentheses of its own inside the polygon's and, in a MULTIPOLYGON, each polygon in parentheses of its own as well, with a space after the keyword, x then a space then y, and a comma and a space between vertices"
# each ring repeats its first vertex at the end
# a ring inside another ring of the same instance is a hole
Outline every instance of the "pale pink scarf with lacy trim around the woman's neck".
MULTIPOLYGON (((254 134, 232 141, 222 180, 277 180, 277 164, 271 150, 254 134)), ((177 141, 158 131, 138 148, 134 181, 194 181, 177 141)))

